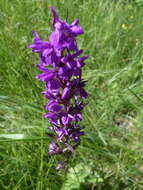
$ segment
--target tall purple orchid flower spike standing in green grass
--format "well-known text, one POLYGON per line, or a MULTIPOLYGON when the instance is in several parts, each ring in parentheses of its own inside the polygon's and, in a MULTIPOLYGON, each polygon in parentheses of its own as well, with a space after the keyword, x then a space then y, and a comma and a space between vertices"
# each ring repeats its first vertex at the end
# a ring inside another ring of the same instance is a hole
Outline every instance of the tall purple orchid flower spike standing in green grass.
MULTIPOLYGON (((88 94, 84 89, 82 67, 88 56, 81 56, 76 37, 83 34, 83 29, 76 19, 72 24, 59 18, 54 7, 53 32, 49 41, 41 40, 37 32, 33 32, 34 43, 29 45, 32 51, 40 56, 37 65, 42 74, 36 78, 45 83, 45 98, 48 103, 44 115, 49 120, 50 131, 54 134, 49 144, 49 154, 65 155, 73 153, 80 143, 80 136, 84 135, 79 122, 82 120, 82 110, 85 107, 84 99, 88 94)), ((61 168, 61 163, 57 168, 61 168)))

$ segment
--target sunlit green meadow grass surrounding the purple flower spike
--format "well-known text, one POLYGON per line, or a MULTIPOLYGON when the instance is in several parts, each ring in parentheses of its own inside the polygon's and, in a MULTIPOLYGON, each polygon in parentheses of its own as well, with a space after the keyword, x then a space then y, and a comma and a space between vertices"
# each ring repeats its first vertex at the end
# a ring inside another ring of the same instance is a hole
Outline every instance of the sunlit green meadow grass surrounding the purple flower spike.
POLYGON ((0 1, 0 189, 143 189, 143 1, 0 1), (48 155, 38 56, 26 46, 36 30, 47 40, 49 7, 79 18, 89 104, 85 136, 67 176, 48 155), (10 136, 17 134, 17 136, 10 136), (19 135, 18 135, 19 134, 19 135), (3 135, 9 135, 4 138, 3 135))

